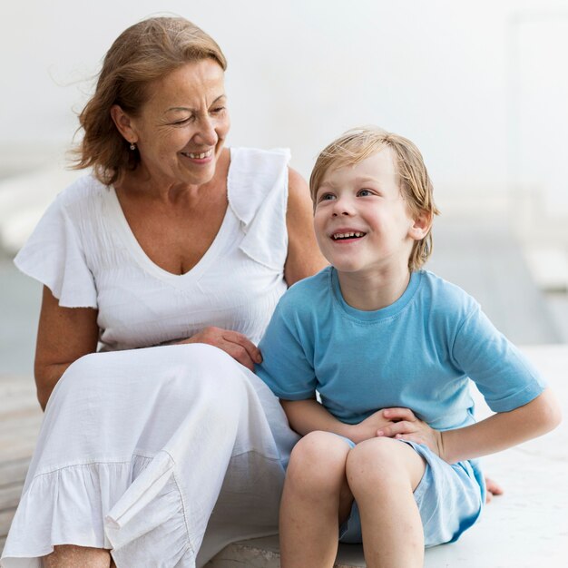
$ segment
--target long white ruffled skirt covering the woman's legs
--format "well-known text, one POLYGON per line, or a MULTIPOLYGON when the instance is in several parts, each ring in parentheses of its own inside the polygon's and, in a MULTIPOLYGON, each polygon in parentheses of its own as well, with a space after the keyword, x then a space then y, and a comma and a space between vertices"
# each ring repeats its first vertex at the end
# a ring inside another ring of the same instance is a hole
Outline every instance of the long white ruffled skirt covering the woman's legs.
POLYGON ((164 551, 171 565, 200 549, 207 562, 229 540, 277 532, 281 448, 296 440, 269 388, 220 349, 82 357, 47 406, 4 557, 68 543, 113 547, 135 568, 164 551))

